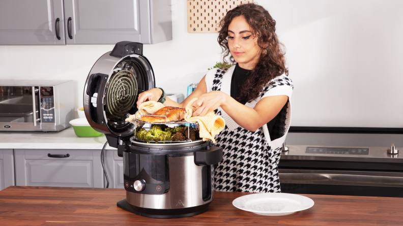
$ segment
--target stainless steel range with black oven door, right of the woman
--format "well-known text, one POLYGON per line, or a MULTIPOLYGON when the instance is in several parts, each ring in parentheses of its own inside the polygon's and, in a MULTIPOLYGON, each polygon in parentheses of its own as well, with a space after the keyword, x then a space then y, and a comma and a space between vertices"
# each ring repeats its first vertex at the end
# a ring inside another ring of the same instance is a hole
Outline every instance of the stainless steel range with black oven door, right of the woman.
MULTIPOLYGON (((294 136, 298 135, 308 136, 294 136)), ((304 145, 290 145, 289 150, 282 152, 278 166, 282 192, 403 197, 403 155, 387 152, 391 148, 387 146, 391 145, 388 143, 390 138, 394 136, 399 142, 403 141, 403 135, 387 135, 383 139, 378 139, 380 135, 350 135, 346 136, 350 142, 339 142, 360 146, 336 146, 337 142, 332 142, 343 135, 316 136, 316 139, 311 139, 316 142, 300 142, 304 145), (331 145, 318 142, 320 137, 328 137, 331 145), (357 141, 360 138, 363 142, 357 141), (385 146, 374 147, 374 144, 381 143, 385 146)), ((403 151, 397 144, 396 149, 403 151)))

